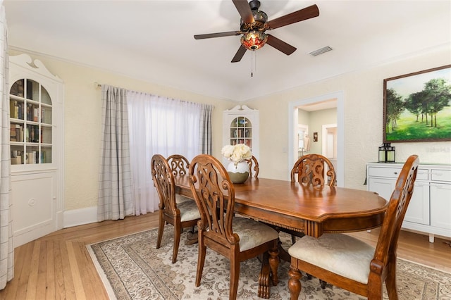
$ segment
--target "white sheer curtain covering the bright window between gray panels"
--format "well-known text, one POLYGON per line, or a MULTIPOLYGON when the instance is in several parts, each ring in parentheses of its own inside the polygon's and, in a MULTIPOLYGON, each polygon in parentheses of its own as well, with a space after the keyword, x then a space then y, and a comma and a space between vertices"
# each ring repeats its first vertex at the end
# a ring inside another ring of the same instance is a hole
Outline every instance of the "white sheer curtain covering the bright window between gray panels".
POLYGON ((181 154, 188 160, 201 153, 202 104, 128 91, 130 163, 135 215, 158 209, 150 161, 154 154, 181 154))

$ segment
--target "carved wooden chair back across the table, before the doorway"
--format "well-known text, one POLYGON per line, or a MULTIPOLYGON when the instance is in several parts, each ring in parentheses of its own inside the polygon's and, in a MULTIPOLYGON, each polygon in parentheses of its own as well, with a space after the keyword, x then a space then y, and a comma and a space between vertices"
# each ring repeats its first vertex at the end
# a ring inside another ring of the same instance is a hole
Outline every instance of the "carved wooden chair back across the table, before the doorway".
POLYGON ((301 156, 291 170, 291 181, 306 185, 330 185, 330 187, 333 187, 336 184, 335 177, 335 169, 332 163, 320 154, 301 156), (326 177, 324 175, 325 168, 327 168, 326 177))

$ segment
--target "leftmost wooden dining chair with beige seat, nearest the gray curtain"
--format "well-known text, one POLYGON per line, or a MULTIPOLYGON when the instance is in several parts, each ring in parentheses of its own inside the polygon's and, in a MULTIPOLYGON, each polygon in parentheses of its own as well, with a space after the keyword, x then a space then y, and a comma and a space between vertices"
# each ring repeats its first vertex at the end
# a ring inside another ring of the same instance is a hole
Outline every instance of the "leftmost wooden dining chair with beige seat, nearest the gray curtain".
POLYGON ((194 201, 175 201, 175 183, 174 175, 169 168, 166 158, 159 154, 152 156, 151 162, 152 179, 156 192, 158 192, 159 204, 159 227, 158 238, 156 240, 156 249, 161 246, 163 230, 166 223, 174 226, 174 244, 172 263, 177 261, 178 246, 180 244, 180 235, 185 227, 193 227, 200 220, 200 213, 194 201))

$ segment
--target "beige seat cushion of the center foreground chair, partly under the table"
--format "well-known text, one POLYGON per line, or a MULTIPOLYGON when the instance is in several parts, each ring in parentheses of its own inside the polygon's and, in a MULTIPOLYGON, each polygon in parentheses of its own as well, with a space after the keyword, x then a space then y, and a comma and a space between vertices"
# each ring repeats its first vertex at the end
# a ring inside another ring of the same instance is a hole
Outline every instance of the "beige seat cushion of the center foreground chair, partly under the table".
POLYGON ((252 249, 279 236, 273 228, 249 218, 234 217, 232 228, 240 237, 240 251, 252 249))

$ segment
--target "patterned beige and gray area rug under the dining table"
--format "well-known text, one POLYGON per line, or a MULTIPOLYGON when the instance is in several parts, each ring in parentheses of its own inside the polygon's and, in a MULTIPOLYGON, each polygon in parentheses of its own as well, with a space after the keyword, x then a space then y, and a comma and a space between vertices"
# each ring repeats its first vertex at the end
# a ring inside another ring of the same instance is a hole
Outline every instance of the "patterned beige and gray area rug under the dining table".
MULTIPOLYGON (((228 299, 228 259, 207 249, 201 285, 194 287, 197 244, 185 245, 182 234, 178 260, 171 263, 173 227, 166 226, 161 248, 155 249, 157 229, 88 245, 92 260, 111 299, 228 299)), ((290 242, 288 235, 283 242, 290 242)), ((285 248, 288 249, 288 248, 285 248)), ((257 296, 261 263, 257 258, 241 263, 238 299, 257 296)), ((271 287, 271 299, 290 299, 288 262, 280 262, 278 286, 271 287)), ((362 296, 302 277, 299 299, 360 300, 362 296)), ((397 288, 400 299, 451 299, 451 274, 398 259, 397 288)), ((388 295, 384 294, 384 299, 388 295)))

